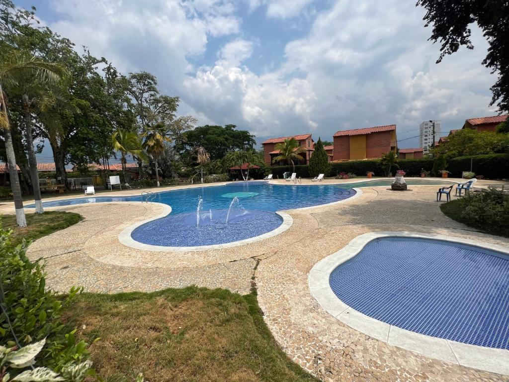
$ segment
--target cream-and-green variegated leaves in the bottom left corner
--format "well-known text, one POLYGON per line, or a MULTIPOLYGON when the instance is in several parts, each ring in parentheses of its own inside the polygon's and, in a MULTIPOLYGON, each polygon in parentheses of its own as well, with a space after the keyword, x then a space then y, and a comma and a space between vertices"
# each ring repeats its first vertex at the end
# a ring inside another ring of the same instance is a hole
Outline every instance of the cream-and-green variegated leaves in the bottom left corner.
POLYGON ((70 362, 62 367, 60 374, 44 366, 34 367, 35 358, 41 352, 45 342, 46 340, 42 339, 21 348, 0 345, 0 380, 2 382, 60 382, 63 380, 81 382, 87 375, 95 375, 91 369, 92 361, 90 360, 81 363, 70 362))

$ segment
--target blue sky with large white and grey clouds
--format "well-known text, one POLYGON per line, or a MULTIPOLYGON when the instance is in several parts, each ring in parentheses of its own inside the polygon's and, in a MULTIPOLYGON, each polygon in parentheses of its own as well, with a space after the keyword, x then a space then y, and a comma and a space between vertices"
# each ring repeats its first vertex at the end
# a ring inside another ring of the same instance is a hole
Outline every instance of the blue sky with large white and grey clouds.
POLYGON ((435 64, 424 11, 407 0, 18 0, 52 30, 121 71, 146 70, 200 124, 232 123, 260 141, 395 123, 416 147, 423 120, 443 135, 496 115, 487 43, 435 64))

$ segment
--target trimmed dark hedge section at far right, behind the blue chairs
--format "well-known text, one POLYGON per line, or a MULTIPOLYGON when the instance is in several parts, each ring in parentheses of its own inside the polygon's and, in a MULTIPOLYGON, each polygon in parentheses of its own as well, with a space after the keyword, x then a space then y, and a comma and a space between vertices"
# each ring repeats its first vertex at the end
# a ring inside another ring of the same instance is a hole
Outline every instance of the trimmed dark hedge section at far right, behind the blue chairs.
POLYGON ((463 171, 470 171, 488 179, 506 179, 509 177, 509 154, 489 154, 460 156, 449 159, 448 170, 455 178, 461 178, 463 171))

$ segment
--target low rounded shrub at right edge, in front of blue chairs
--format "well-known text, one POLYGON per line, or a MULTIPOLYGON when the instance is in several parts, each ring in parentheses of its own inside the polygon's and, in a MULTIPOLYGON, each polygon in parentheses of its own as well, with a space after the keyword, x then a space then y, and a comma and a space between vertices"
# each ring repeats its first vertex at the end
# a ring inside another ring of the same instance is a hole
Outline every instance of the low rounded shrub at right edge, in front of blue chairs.
POLYGON ((467 192, 460 199, 462 219, 468 225, 509 236, 509 194, 495 188, 483 192, 467 192))

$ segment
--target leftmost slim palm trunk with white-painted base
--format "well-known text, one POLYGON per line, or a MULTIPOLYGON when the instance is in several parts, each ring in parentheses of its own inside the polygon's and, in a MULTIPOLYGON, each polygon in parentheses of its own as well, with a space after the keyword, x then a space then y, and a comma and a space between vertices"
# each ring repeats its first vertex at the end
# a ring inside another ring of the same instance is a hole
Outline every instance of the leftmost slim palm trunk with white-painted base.
POLYGON ((12 195, 14 198, 14 208, 16 210, 16 223, 18 224, 18 227, 26 227, 25 210, 23 209, 23 197, 21 196, 18 169, 16 168, 16 155, 14 154, 14 147, 12 145, 12 134, 9 126, 9 116, 7 114, 7 105, 5 104, 2 84, 0 84, 0 108, 0 111, 4 114, 5 122, 7 124, 6 128, 4 129, 5 152, 7 157, 7 165, 9 167, 12 195))

